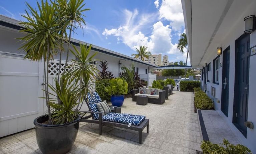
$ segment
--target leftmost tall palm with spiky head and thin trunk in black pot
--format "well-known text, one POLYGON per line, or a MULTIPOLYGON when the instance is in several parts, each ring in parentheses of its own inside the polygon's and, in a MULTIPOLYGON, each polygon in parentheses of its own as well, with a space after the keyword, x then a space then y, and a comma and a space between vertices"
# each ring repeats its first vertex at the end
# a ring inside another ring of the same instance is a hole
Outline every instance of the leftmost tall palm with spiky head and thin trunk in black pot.
POLYGON ((37 2, 38 10, 33 9, 28 3, 28 11, 26 15, 22 15, 27 19, 26 22, 21 22, 20 25, 24 27, 22 32, 26 35, 21 39, 24 44, 20 47, 27 54, 24 58, 29 58, 32 61, 40 61, 43 59, 44 63, 44 82, 45 82, 45 98, 46 106, 48 108, 49 123, 51 124, 51 110, 49 98, 49 85, 48 85, 48 70, 49 61, 53 60, 59 50, 63 48, 63 37, 59 35, 62 31, 62 20, 56 17, 56 3, 48 3, 47 0, 41 1, 41 6, 37 2))

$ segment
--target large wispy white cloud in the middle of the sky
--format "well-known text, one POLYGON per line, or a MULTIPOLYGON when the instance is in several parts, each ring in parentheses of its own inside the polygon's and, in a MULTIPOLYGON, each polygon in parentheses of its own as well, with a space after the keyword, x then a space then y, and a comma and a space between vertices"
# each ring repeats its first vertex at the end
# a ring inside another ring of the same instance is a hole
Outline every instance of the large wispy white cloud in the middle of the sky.
POLYGON ((145 45, 152 54, 177 53, 176 46, 171 41, 172 29, 169 25, 165 26, 161 21, 154 23, 152 33, 148 37, 145 36, 142 30, 149 23, 149 20, 154 17, 153 15, 142 14, 139 16, 137 10, 134 12, 125 10, 124 15, 126 19, 124 25, 109 30, 105 29, 102 35, 105 35, 105 37, 109 35, 117 36, 117 44, 122 42, 133 50, 140 45, 145 45))

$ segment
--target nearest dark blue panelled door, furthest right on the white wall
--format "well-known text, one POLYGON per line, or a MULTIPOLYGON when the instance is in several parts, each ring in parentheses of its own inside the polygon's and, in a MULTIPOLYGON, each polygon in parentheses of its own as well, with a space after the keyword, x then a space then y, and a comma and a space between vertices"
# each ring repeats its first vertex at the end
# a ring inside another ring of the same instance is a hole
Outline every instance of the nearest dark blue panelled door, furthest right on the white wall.
POLYGON ((246 137, 249 93, 249 60, 250 60, 250 35, 244 34, 236 41, 236 72, 234 115, 235 126, 246 137))

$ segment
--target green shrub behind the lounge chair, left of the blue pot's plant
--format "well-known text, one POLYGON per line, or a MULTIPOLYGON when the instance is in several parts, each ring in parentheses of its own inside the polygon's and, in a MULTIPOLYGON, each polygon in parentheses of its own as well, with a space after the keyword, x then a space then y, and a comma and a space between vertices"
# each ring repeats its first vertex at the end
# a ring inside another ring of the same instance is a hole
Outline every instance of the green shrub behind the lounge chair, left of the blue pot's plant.
POLYGON ((103 100, 106 100, 107 102, 110 101, 110 95, 105 92, 105 87, 109 86, 109 79, 100 79, 96 80, 95 82, 95 89, 96 92, 99 94, 99 97, 103 100))

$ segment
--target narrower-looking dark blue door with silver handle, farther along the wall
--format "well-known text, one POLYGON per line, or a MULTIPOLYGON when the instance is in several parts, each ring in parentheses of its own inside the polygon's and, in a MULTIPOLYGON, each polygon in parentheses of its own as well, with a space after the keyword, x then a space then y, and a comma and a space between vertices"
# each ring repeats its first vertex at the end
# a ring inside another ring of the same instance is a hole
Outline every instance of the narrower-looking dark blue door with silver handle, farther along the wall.
POLYGON ((229 47, 223 51, 221 111, 228 116, 229 98, 229 47))

